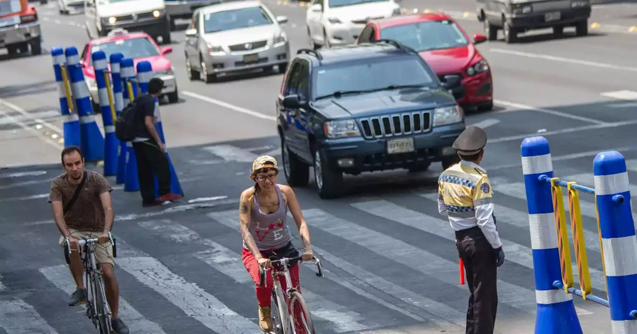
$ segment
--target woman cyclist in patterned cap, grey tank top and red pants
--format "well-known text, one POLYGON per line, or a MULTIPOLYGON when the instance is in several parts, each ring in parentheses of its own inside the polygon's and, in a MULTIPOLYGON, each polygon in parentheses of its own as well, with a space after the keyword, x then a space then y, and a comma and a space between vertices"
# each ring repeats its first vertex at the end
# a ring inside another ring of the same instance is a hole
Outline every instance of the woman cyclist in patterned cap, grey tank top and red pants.
MULTIPOLYGON (((285 223, 287 209, 290 208, 294 222, 299 228, 303 240, 302 261, 313 259, 310 245, 310 232, 303 219, 301 206, 294 191, 289 186, 277 184, 278 167, 276 160, 267 155, 258 157, 252 163, 250 179, 254 186, 241 193, 239 222, 243 237, 241 260, 255 284, 260 283, 259 267, 272 267, 272 259, 299 256, 292 245, 292 235, 285 223)), ((299 266, 290 261, 292 285, 301 292, 299 285, 299 266)), ((270 312, 273 280, 266 275, 267 284, 256 286, 259 302, 259 326, 266 333, 273 331, 270 312)), ((280 278, 281 286, 287 289, 285 279, 280 278)))

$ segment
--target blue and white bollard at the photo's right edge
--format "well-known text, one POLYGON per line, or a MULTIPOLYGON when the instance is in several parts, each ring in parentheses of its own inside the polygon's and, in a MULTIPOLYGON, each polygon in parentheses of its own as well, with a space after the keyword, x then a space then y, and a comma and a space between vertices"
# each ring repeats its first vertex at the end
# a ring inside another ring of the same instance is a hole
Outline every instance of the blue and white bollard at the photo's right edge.
POLYGON ((637 237, 626 160, 618 151, 601 152, 593 171, 612 332, 637 333, 637 237))

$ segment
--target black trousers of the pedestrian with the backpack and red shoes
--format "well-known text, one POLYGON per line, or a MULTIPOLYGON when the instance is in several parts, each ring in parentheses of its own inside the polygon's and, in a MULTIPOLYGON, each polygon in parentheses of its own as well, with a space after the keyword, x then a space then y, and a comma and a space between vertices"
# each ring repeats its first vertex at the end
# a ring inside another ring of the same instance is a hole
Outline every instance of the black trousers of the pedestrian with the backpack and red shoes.
POLYGON ((170 165, 168 158, 153 139, 132 143, 137 158, 137 177, 140 179, 141 199, 155 202, 155 176, 159 183, 158 195, 170 192, 170 165))

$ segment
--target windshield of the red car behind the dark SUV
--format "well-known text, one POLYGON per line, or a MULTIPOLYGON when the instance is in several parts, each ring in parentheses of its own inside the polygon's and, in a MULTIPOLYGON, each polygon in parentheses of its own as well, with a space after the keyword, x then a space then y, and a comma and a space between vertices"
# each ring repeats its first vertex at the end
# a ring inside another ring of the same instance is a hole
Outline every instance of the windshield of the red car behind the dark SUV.
POLYGON ((387 27, 380 32, 380 38, 394 39, 417 52, 457 48, 469 44, 458 26, 449 20, 387 27))

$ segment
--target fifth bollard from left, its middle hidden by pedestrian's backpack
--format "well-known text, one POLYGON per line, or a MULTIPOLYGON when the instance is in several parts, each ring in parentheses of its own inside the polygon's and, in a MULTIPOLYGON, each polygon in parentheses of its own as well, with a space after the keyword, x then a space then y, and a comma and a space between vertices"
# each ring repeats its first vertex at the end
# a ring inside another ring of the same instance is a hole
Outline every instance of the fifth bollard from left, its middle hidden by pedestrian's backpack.
MULTIPOLYGON (((124 58, 120 62, 122 70, 122 83, 124 90, 124 103, 126 100, 134 100, 137 97, 137 83, 135 82, 135 67, 131 58, 124 58), (130 85, 129 85, 130 84, 130 85), (130 87, 129 87, 130 86, 130 87)), ((131 142, 126 143, 126 170, 124 173, 124 191, 140 190, 140 179, 137 177, 137 159, 131 142)))

